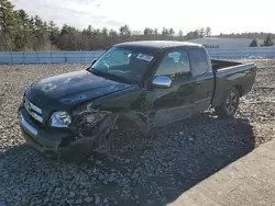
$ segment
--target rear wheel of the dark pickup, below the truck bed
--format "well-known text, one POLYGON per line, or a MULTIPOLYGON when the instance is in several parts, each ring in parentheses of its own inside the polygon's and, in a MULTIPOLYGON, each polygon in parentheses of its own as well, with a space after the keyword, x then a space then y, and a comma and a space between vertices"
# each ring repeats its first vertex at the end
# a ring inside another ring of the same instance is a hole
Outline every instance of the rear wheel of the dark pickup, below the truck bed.
POLYGON ((222 118, 232 118, 239 107, 240 93, 235 88, 232 88, 226 96, 223 103, 215 108, 218 116, 222 118))

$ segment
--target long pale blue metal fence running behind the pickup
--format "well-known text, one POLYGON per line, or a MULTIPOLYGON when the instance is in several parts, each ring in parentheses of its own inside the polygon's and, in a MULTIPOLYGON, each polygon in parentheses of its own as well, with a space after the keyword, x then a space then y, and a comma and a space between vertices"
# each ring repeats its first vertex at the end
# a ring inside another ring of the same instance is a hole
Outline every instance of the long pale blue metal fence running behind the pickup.
MULTIPOLYGON (((243 59, 263 58, 275 59, 275 47, 242 47, 242 48, 209 48, 211 58, 243 59)), ((98 58, 100 52, 40 52, 40 53, 0 53, 0 64, 90 64, 98 58)))

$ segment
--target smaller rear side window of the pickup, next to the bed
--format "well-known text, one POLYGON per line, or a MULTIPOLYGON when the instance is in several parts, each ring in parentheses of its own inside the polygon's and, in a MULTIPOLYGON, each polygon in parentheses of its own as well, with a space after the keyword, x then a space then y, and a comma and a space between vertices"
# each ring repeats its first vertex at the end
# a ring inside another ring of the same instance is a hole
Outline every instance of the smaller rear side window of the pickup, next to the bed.
POLYGON ((194 77, 204 75, 208 70, 208 60, 206 53, 201 48, 189 49, 190 64, 194 77))

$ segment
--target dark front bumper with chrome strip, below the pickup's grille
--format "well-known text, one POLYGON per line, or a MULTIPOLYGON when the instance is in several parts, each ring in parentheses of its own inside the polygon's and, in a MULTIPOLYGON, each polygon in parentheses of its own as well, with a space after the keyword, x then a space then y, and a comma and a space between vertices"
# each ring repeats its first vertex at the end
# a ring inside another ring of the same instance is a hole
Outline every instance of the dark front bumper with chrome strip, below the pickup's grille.
POLYGON ((62 147, 66 147, 74 139, 70 130, 37 125, 24 107, 19 110, 19 122, 26 144, 48 158, 58 158, 62 147))

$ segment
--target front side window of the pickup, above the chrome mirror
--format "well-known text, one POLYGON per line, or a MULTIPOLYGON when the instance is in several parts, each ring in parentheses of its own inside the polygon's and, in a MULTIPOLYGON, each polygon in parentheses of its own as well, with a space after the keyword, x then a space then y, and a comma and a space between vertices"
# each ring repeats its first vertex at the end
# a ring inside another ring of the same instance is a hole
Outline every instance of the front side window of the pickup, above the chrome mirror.
POLYGON ((167 76, 172 79, 188 78, 191 75, 186 50, 172 52, 165 55, 155 76, 167 76))

